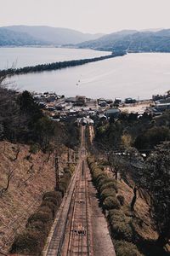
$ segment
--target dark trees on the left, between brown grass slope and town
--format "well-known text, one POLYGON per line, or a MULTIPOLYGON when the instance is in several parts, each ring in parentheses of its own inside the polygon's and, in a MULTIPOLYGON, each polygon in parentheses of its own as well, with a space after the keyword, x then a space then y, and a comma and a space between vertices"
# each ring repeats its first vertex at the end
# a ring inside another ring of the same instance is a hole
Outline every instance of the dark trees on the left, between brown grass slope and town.
POLYGON ((60 144, 77 147, 79 129, 74 120, 55 122, 42 112, 29 91, 18 93, 2 84, 3 79, 0 81, 0 140, 26 143, 44 151, 54 150, 60 144))

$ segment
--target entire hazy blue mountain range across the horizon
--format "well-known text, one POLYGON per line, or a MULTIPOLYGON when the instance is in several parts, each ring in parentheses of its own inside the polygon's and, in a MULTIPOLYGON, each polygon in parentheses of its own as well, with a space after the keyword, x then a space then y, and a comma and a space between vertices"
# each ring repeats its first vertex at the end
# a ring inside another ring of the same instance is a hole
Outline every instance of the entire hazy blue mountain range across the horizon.
POLYGON ((89 34, 51 26, 0 27, 2 46, 71 46, 127 52, 170 52, 170 29, 89 34))

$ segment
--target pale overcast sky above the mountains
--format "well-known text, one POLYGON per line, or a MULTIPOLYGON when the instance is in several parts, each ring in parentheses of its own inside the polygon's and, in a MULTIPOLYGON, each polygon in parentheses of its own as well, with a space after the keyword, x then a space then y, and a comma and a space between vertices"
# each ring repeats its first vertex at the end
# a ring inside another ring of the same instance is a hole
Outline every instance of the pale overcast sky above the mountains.
POLYGON ((0 26, 48 25, 82 32, 170 28, 170 0, 0 0, 0 26))

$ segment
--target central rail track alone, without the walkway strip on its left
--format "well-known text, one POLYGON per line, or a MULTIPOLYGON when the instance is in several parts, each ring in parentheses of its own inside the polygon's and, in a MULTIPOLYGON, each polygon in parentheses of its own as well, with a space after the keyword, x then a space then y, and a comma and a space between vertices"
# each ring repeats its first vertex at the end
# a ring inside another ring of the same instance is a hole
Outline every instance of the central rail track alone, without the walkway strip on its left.
POLYGON ((74 206, 66 253, 68 256, 91 255, 88 204, 88 175, 85 162, 82 160, 82 172, 79 172, 74 191, 74 206))

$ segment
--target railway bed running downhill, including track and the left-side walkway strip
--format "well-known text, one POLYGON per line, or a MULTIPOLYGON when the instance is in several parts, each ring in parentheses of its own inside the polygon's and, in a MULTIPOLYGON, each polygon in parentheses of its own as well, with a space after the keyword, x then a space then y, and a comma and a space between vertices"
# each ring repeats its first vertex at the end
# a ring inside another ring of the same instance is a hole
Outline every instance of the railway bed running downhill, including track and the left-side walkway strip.
POLYGON ((54 221, 54 229, 48 238, 48 248, 43 255, 93 255, 84 127, 82 127, 82 143, 77 170, 54 221))

